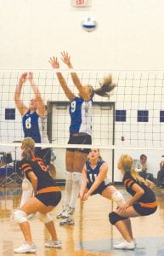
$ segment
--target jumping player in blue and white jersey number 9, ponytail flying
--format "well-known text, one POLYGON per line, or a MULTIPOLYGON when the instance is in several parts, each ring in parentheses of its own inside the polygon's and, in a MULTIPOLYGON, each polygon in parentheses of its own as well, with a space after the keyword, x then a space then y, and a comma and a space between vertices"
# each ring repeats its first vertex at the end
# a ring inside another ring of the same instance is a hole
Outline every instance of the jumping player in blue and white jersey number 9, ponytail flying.
MULTIPOLYGON (((68 53, 62 52, 62 61, 69 67, 71 65, 71 57, 68 53)), ((49 63, 53 68, 59 68, 59 61, 52 57, 49 63)), ((70 100, 70 138, 68 144, 91 144, 92 143, 92 108, 93 96, 109 96, 110 91, 116 87, 113 84, 111 76, 104 79, 99 89, 94 90, 89 84, 82 85, 76 73, 71 73, 71 78, 76 85, 79 96, 70 90, 61 73, 56 73, 59 83, 70 100)), ((88 148, 66 148, 66 183, 65 183, 65 201, 63 211, 59 213, 57 218, 66 218, 60 224, 74 224, 72 215, 75 211, 76 199, 79 195, 82 182, 82 169, 87 160, 88 148)))

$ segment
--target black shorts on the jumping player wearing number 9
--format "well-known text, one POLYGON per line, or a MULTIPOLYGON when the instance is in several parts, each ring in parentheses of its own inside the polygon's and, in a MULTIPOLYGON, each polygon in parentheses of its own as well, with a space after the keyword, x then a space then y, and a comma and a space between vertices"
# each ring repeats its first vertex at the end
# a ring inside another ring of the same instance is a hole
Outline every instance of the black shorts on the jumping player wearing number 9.
MULTIPOLYGON (((84 145, 90 145, 92 144, 92 137, 88 135, 87 133, 82 135, 81 133, 75 135, 71 135, 68 141, 68 144, 84 144, 84 145)), ((72 151, 72 152, 81 152, 84 154, 88 154, 90 151, 90 148, 66 148, 66 150, 72 151)))

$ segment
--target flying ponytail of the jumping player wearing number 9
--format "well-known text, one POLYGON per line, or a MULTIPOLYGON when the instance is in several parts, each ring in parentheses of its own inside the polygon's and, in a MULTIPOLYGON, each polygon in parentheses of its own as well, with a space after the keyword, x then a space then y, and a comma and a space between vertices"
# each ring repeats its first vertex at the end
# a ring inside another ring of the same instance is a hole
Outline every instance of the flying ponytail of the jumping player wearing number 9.
POLYGON ((116 84, 112 82, 111 75, 105 77, 105 79, 102 82, 99 82, 99 85, 100 87, 98 89, 93 89, 93 86, 89 85, 89 87, 91 88, 92 97, 94 94, 97 94, 103 97, 109 97, 110 91, 114 90, 114 88, 116 87, 116 84))

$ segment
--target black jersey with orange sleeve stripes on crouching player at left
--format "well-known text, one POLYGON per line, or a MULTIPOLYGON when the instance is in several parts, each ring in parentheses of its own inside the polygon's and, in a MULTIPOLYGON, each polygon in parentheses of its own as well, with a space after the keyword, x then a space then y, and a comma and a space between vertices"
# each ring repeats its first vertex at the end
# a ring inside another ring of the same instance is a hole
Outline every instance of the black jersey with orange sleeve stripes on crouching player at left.
POLYGON ((29 180, 29 172, 34 172, 37 176, 37 191, 40 189, 54 187, 56 183, 54 179, 49 175, 48 167, 45 166, 41 158, 31 158, 31 160, 21 160, 22 171, 29 180))

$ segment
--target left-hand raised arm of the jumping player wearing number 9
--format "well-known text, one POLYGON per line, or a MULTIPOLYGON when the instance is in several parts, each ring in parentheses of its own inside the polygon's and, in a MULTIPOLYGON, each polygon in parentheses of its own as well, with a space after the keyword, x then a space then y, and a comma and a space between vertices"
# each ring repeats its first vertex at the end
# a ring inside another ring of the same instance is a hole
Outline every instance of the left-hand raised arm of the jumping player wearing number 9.
MULTIPOLYGON (((55 57, 50 58, 49 63, 51 64, 51 66, 53 68, 59 68, 59 61, 58 61, 57 58, 55 58, 55 57)), ((65 92, 65 96, 67 96, 67 98, 70 101, 73 101, 76 96, 72 93, 72 91, 70 90, 70 88, 66 84, 66 81, 65 81, 62 73, 56 73, 56 75, 57 75, 57 78, 59 79, 59 84, 61 85, 62 89, 65 92)))

